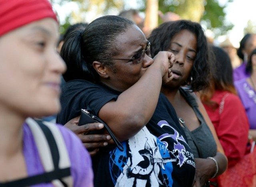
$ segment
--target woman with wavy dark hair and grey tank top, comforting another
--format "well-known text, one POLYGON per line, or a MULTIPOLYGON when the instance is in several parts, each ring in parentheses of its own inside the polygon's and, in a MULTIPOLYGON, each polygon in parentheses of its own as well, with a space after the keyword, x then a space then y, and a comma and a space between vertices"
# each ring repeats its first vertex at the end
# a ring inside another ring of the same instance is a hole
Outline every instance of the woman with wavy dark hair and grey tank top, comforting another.
POLYGON ((209 85, 210 63, 204 31, 195 22, 166 22, 154 29, 148 40, 152 43, 152 57, 162 50, 175 55, 174 78, 164 84, 161 91, 174 106, 182 123, 185 122, 182 126, 196 161, 196 179, 202 186, 211 177, 223 173, 227 165, 214 127, 200 99, 193 93, 209 85), (182 88, 186 84, 191 90, 182 88))

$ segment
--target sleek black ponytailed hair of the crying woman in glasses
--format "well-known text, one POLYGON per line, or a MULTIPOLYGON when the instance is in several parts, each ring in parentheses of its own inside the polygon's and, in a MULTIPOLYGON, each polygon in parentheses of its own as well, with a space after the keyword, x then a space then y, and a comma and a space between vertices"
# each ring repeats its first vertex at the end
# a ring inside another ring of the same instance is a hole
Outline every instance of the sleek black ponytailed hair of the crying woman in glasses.
POLYGON ((92 62, 99 61, 114 68, 111 60, 119 54, 116 38, 126 32, 134 22, 120 16, 103 16, 91 22, 85 29, 76 29, 64 40, 60 55, 66 62, 65 81, 84 79, 96 82, 98 73, 92 62))

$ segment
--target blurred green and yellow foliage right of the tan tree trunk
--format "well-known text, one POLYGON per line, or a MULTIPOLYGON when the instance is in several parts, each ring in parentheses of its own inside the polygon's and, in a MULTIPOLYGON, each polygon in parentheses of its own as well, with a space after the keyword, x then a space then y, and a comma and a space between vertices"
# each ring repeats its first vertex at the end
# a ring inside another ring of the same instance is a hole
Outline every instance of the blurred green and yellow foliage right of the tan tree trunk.
POLYGON ((220 6, 217 0, 159 0, 159 10, 163 13, 170 11, 180 15, 182 19, 201 22, 216 36, 226 34, 233 28, 232 24, 225 22, 225 7, 226 5, 220 6))

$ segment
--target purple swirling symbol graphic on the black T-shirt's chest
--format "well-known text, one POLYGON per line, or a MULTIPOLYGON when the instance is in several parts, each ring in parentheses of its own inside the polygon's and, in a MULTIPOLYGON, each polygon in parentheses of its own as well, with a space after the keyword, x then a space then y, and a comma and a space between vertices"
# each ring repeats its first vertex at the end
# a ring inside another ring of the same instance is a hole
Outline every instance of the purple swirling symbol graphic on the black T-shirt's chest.
MULTIPOLYGON (((174 139, 174 141, 176 141, 176 143, 174 143, 174 149, 172 150, 172 154, 176 157, 176 161, 178 161, 178 165, 180 165, 180 167, 185 163, 185 161, 188 159, 188 157, 186 157, 186 149, 184 147, 184 145, 182 145, 180 141, 183 141, 184 143, 186 143, 184 137, 182 135, 180 135, 178 133, 178 131, 176 131, 176 129, 174 129, 171 125, 169 125, 169 123, 167 121, 159 121, 158 125, 162 128, 164 126, 168 126, 170 128, 172 128, 172 130, 174 131, 174 134, 162 134, 161 136, 159 136, 158 138, 160 139, 160 141, 162 141, 164 138, 167 137, 171 137, 172 139, 174 139), (178 155, 177 152, 178 151, 178 155)), ((168 147, 168 143, 166 141, 162 141, 166 147, 168 147)), ((186 143, 187 144, 187 143, 186 143)), ((188 144, 187 144, 188 145, 188 144)))

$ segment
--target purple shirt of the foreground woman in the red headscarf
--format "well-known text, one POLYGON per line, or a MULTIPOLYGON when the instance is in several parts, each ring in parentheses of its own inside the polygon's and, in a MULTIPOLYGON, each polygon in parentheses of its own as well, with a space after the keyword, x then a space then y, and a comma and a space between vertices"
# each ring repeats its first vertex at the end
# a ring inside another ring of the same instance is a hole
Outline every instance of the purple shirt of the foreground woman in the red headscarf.
MULTIPOLYGON (((64 137, 71 163, 71 175, 74 187, 86 187, 93 184, 92 163, 89 153, 83 147, 80 139, 71 131, 58 125, 64 137)), ((30 128, 25 123, 23 125, 23 154, 26 161, 28 176, 44 173, 43 165, 40 161, 38 149, 30 128)), ((33 187, 53 187, 51 183, 34 185, 33 187)))

